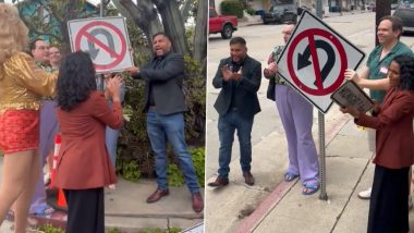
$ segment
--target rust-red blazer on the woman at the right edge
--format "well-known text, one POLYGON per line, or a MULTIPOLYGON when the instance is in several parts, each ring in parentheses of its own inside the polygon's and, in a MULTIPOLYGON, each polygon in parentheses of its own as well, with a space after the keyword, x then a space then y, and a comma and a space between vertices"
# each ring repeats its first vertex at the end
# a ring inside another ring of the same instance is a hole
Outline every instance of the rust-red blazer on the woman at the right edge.
POLYGON ((414 91, 389 89, 377 116, 361 114, 355 123, 377 130, 373 162, 389 169, 414 163, 414 91))

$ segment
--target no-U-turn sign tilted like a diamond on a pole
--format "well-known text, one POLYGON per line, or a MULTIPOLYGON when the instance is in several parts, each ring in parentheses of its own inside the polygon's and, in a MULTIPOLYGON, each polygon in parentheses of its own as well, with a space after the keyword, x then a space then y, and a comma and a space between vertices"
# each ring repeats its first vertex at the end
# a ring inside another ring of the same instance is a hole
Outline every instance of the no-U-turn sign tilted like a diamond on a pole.
POLYGON ((344 81, 346 69, 356 70, 365 53, 304 11, 278 60, 280 75, 320 112, 332 105, 330 95, 344 81))

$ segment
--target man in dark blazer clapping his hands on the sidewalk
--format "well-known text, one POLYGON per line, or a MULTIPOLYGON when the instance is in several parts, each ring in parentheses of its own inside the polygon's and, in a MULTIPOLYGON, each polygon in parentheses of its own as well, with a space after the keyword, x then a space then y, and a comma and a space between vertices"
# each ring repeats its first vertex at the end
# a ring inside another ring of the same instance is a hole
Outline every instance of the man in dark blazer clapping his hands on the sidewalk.
POLYGON ((238 130, 240 143, 240 164, 244 181, 255 183, 251 173, 252 143, 251 133, 254 115, 260 111, 257 90, 260 87, 261 64, 247 56, 246 40, 234 37, 230 40, 230 58, 222 59, 212 79, 216 88, 221 88, 215 108, 219 113, 219 170, 218 177, 209 186, 229 184, 229 163, 234 132, 238 130))

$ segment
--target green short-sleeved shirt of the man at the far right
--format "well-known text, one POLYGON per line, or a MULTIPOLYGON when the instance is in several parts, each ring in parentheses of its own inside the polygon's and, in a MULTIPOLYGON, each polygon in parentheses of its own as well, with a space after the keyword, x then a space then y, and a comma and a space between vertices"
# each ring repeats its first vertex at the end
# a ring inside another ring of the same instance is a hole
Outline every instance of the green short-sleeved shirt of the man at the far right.
MULTIPOLYGON (((403 42, 398 41, 398 44, 392 48, 392 50, 382 59, 379 60, 381 56, 382 46, 377 46, 373 52, 369 53, 368 61, 366 65, 369 69, 369 79, 380 79, 387 76, 388 66, 394 57, 405 54, 414 57, 413 51, 405 46, 403 42), (381 72, 381 68, 382 72, 381 72)), ((382 103, 383 97, 386 96, 385 90, 369 90, 369 96, 372 99, 376 100, 378 103, 382 103)))

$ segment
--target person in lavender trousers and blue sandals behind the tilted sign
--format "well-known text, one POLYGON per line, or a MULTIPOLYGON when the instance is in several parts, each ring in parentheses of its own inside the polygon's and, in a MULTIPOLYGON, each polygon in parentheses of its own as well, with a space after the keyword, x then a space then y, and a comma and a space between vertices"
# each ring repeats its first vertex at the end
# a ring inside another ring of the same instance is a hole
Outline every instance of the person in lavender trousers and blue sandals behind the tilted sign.
MULTIPOLYGON (((283 27, 284 42, 288 42, 294 26, 288 24, 283 27)), ((314 107, 279 76, 276 60, 277 58, 269 59, 269 66, 265 69, 264 74, 270 79, 269 89, 273 94, 270 97, 276 99, 276 107, 288 138, 289 168, 284 173, 284 181, 291 182, 300 176, 304 186, 302 194, 312 195, 319 189, 319 162, 312 136, 314 107), (272 85, 272 79, 276 85, 272 85)))

